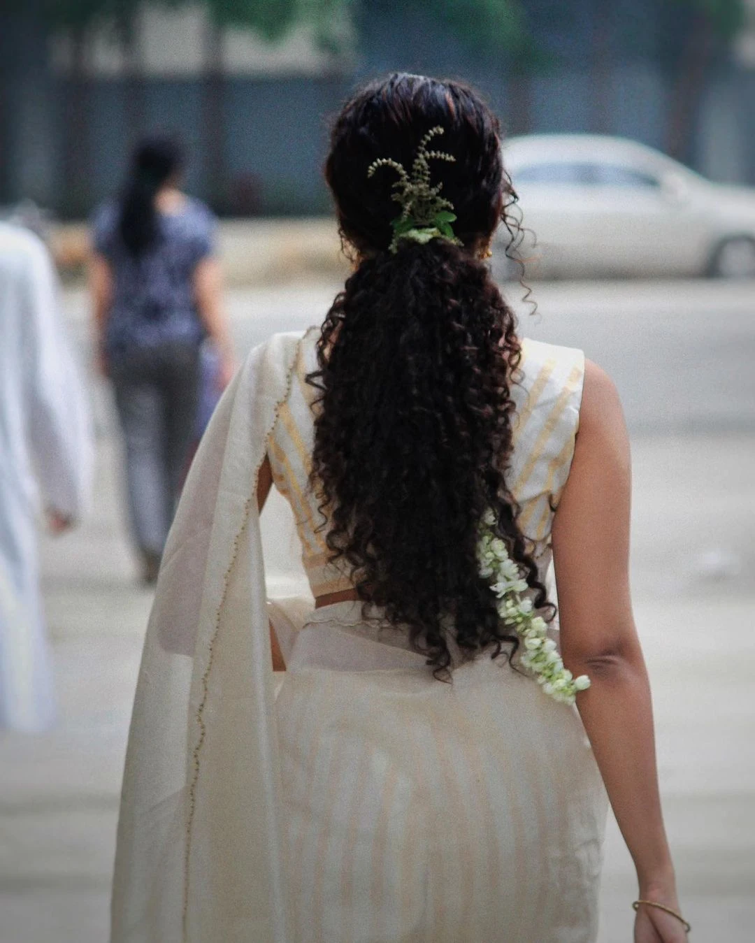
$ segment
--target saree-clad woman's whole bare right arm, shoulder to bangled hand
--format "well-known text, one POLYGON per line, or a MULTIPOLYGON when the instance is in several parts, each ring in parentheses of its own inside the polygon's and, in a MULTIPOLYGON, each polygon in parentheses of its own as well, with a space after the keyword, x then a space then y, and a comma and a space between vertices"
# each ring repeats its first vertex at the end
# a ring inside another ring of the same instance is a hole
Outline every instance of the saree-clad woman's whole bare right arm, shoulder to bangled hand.
MULTIPOLYGON (((640 898, 679 909, 665 837, 648 675, 629 587, 629 440, 611 380, 585 372, 580 432, 553 522, 561 644, 566 666, 592 685, 577 705, 615 817, 627 843, 640 898)), ((635 940, 678 943, 681 923, 641 908, 635 940)))

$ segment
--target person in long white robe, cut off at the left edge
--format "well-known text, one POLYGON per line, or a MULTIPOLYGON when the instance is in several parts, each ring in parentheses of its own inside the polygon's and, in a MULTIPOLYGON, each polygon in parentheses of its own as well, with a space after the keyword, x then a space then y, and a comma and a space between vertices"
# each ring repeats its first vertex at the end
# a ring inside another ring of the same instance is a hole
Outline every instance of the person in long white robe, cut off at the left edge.
POLYGON ((37 732, 55 717, 37 563, 41 505, 54 534, 90 493, 90 412, 47 250, 0 223, 0 728, 37 732))

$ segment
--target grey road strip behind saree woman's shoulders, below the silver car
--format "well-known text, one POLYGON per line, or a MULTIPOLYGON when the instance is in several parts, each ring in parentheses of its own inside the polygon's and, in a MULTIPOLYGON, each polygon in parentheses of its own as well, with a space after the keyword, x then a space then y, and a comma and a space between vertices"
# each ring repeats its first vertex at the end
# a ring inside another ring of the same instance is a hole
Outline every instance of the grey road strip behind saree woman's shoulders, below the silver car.
MULTIPOLYGON (((332 284, 234 290, 227 307, 238 352, 275 331, 320 323, 332 284)), ((522 333, 582 347, 615 379, 632 429, 642 432, 755 429, 755 282, 543 283, 538 303, 517 299, 522 333)), ((83 292, 66 305, 79 336, 83 292)))

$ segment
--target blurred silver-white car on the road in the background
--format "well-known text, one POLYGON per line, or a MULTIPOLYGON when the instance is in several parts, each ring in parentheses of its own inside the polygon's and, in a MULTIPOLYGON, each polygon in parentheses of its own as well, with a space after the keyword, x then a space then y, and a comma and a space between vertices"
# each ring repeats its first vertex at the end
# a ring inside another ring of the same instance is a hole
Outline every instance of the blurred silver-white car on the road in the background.
MULTIPOLYGON (((528 274, 755 277, 755 188, 713 183, 636 141, 512 138, 503 159, 525 232, 528 274)), ((508 241, 504 227, 501 248, 508 241)))

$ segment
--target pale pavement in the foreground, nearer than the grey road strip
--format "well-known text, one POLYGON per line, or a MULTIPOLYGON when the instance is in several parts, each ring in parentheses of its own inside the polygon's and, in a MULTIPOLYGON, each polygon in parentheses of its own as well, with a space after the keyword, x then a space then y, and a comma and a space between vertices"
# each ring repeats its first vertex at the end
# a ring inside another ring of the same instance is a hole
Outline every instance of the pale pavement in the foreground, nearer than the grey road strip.
MULTIPOLYGON (((746 434, 633 443, 637 623, 698 943, 749 943, 755 926, 754 450, 746 434)), ((123 749, 151 603, 125 538, 119 460, 102 438, 90 521, 41 539, 60 723, 45 736, 0 736, 0 943, 107 939, 123 749)), ((629 943, 634 897, 612 821, 600 943, 629 943)))

